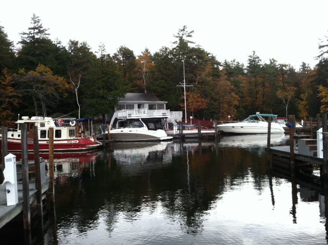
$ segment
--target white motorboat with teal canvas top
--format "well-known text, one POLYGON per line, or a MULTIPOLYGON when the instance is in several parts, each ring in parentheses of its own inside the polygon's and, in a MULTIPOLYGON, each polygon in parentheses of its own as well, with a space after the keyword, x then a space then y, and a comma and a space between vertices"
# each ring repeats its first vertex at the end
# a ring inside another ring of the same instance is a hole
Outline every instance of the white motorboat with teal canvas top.
POLYGON ((250 115, 248 118, 243 119, 239 123, 221 124, 218 125, 218 130, 224 133, 235 134, 267 134, 268 122, 263 117, 271 117, 271 133, 284 133, 283 127, 276 123, 277 115, 273 114, 260 114, 250 115))

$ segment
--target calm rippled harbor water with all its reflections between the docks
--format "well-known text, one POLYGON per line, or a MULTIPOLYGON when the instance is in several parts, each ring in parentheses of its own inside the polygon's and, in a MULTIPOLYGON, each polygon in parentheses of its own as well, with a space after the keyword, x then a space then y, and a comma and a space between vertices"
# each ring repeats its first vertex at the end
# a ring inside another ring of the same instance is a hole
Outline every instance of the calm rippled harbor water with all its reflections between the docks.
POLYGON ((326 244, 323 193, 269 175, 266 140, 116 143, 56 159, 55 221, 39 242, 326 244))

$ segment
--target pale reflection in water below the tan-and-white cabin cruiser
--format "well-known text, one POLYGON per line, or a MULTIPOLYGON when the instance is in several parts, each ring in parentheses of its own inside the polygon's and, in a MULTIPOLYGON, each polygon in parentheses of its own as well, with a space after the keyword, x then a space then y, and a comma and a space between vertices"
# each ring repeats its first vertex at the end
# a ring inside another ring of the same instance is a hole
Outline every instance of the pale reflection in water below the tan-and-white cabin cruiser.
POLYGON ((169 142, 114 142, 113 157, 120 163, 132 164, 145 162, 152 152, 163 152, 169 142))

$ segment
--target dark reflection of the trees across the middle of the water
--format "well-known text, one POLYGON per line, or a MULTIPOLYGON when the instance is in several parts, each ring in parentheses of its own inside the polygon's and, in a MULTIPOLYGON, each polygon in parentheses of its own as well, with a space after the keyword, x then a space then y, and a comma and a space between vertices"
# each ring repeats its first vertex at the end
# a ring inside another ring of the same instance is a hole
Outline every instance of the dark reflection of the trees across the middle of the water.
POLYGON ((121 219, 133 222, 142 210, 163 209, 162 215, 179 222, 181 230, 199 234, 203 216, 224 192, 250 177, 256 189, 264 188, 265 156, 214 145, 199 151, 197 146, 182 145, 178 154, 153 151, 146 161, 130 156, 134 161, 129 164, 127 155, 122 155, 122 162, 118 155, 97 158, 93 170, 86 167, 83 174, 68 176, 65 185, 56 185, 58 221, 65 226, 65 219, 74 219, 83 232, 106 216, 110 232, 121 219))

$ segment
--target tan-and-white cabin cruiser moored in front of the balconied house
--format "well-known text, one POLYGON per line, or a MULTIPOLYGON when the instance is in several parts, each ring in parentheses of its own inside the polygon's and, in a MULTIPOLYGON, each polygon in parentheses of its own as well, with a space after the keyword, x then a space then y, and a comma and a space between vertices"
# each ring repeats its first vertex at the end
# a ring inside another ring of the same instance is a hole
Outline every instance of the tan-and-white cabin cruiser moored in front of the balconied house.
POLYGON ((162 117, 135 118, 125 128, 109 131, 110 139, 116 141, 160 141, 172 139, 163 129, 162 117))

